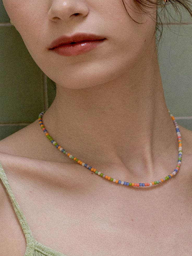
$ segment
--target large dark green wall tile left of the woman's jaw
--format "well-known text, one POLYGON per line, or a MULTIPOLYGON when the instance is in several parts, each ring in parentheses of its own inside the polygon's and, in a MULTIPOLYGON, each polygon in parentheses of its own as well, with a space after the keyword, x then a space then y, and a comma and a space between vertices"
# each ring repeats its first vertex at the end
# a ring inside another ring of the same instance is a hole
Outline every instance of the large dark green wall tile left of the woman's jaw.
POLYGON ((0 27, 0 122, 31 123, 43 111, 42 71, 14 26, 0 27))

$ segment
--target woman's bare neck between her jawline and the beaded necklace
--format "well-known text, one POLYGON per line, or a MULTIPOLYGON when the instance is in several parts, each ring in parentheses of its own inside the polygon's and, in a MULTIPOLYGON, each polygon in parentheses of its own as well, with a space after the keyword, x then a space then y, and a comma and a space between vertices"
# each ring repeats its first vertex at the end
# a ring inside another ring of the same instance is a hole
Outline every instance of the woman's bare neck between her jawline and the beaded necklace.
POLYGON ((56 97, 42 119, 67 152, 95 169, 108 166, 111 175, 115 166, 133 178, 161 178, 176 167, 177 135, 157 54, 103 84, 80 89, 57 84, 56 97))

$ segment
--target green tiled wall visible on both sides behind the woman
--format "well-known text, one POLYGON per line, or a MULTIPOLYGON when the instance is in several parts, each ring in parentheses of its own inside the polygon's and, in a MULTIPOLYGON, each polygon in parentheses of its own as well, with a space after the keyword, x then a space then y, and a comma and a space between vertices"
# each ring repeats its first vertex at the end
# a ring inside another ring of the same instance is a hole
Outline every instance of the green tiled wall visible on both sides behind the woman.
MULTIPOLYGON (((192 18, 181 10, 181 20, 169 8, 169 27, 160 15, 164 25, 158 50, 165 100, 178 124, 192 130, 192 18)), ((0 140, 36 120, 56 94, 9 21, 0 0, 0 140)))

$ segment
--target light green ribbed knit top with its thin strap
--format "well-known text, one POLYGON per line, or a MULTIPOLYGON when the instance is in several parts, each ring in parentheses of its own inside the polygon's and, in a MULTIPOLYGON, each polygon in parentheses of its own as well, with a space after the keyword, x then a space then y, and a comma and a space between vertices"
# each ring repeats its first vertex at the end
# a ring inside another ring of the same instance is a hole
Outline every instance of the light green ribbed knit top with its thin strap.
POLYGON ((27 223, 27 220, 23 215, 23 212, 21 211, 21 208, 14 197, 14 194, 11 190, 11 187, 7 180, 7 176, 5 174, 5 171, 3 170, 1 163, 0 163, 0 178, 9 194, 9 198, 11 199, 11 203, 13 205, 17 218, 19 219, 23 233, 25 234, 27 245, 26 245, 26 251, 24 256, 67 256, 65 254, 55 251, 54 249, 51 249, 48 246, 41 244, 40 242, 34 239, 31 229, 29 228, 29 225, 27 223))

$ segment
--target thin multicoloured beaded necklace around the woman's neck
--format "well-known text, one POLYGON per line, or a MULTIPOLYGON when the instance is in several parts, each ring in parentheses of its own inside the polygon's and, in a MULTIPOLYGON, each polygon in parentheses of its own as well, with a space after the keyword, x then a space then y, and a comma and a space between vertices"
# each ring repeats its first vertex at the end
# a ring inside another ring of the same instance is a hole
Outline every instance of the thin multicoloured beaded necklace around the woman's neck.
MULTIPOLYGON (((169 111, 169 109, 168 109, 169 111)), ((87 169, 93 171, 95 174, 99 175, 100 177, 103 177, 105 178, 106 180, 109 180, 109 181, 113 181, 114 183, 117 183, 117 184, 121 184, 121 185, 126 185, 126 186, 129 186, 129 187, 151 187, 153 185, 157 185, 157 184, 160 184, 160 183, 163 183, 167 180, 169 180, 171 177, 173 177, 174 175, 177 174, 180 166, 181 166, 181 158, 182 158, 182 154, 183 154, 183 151, 182 151, 182 141, 181 141, 181 133, 179 131, 179 127, 177 126, 177 122, 175 121, 175 117, 170 114, 170 111, 169 111, 169 114, 173 120, 173 123, 175 125, 175 128, 176 128, 176 134, 177 134, 177 140, 178 140, 178 151, 179 151, 179 155, 178 155, 178 161, 177 161, 177 167, 175 168, 175 170, 169 174, 168 176, 166 176, 165 178, 161 178, 160 180, 157 180, 157 181, 152 181, 152 182, 147 182, 147 183, 133 183, 133 182, 127 182, 127 181, 121 181, 121 180, 116 180, 115 178, 111 178, 110 176, 108 175, 105 175, 103 173, 101 173, 100 171, 98 171, 97 169, 93 168, 92 166, 89 166, 88 164, 85 164, 83 163, 81 160, 79 160, 78 158, 74 157, 71 153, 68 153, 65 149, 63 149, 61 146, 59 146, 57 144, 57 142, 55 140, 53 140, 53 138, 50 136, 50 134, 47 132, 44 124, 43 124, 43 121, 42 121, 42 116, 43 114, 45 113, 46 111, 44 112, 41 112, 39 114, 39 124, 40 124, 40 127, 41 129, 43 130, 45 136, 51 141, 51 143, 58 149, 60 150, 63 154, 67 155, 69 158, 71 158, 72 160, 74 160, 76 163, 86 167, 87 169)))

